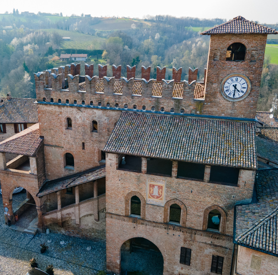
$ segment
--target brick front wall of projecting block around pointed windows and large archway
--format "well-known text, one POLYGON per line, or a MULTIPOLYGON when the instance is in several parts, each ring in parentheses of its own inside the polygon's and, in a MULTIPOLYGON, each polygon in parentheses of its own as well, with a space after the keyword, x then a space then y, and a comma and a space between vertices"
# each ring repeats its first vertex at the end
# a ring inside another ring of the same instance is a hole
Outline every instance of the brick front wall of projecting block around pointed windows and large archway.
POLYGON ((209 272, 212 253, 224 256, 222 274, 229 274, 233 249, 234 205, 237 201, 252 197, 255 172, 252 170, 241 172, 238 186, 155 176, 157 179, 166 180, 165 201, 178 199, 185 205, 187 210, 186 217, 183 217, 186 220, 185 228, 163 223, 164 207, 151 204, 146 204, 146 221, 125 217, 125 198, 129 192, 136 191, 146 200, 146 183, 149 175, 117 170, 117 161, 118 155, 107 154, 107 269, 112 272, 119 271, 117 262, 120 257, 120 246, 129 238, 140 235, 152 241, 162 252, 164 274, 187 274, 193 270, 194 274, 209 272), (202 231, 204 212, 213 205, 218 205, 226 213, 225 234, 202 231), (179 263, 181 246, 192 249, 193 262, 190 268, 179 263))

